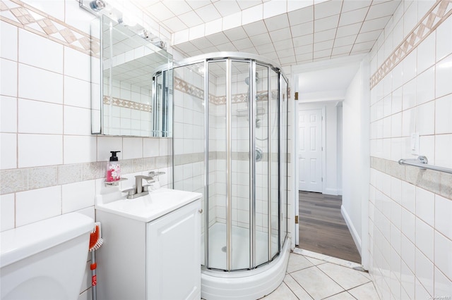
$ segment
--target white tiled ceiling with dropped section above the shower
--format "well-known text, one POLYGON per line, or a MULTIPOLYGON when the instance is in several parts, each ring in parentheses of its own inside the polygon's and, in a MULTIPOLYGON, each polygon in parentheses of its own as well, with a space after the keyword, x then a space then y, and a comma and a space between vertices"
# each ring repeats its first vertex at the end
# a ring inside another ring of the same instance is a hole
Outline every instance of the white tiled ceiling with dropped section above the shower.
POLYGON ((367 53, 400 0, 133 0, 184 56, 243 51, 297 65, 367 53), (315 3, 315 4, 314 4, 315 3))

